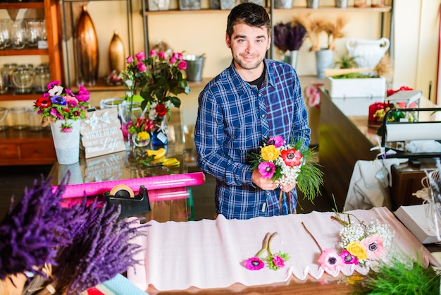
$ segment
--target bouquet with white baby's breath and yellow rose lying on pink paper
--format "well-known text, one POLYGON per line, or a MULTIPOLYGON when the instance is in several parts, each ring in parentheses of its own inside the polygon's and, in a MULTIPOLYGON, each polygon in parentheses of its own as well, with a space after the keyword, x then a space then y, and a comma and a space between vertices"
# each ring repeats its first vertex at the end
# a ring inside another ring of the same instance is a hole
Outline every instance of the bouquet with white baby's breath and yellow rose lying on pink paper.
MULTIPOLYGON (((349 217, 349 215, 348 215, 349 217)), ((378 260, 387 253, 392 243, 394 232, 388 224, 380 224, 378 220, 368 224, 361 222, 353 223, 344 221, 337 213, 337 217, 331 217, 343 225, 340 229, 340 253, 335 249, 327 248, 318 258, 321 267, 327 270, 335 270, 344 264, 366 265, 368 261, 378 260)))

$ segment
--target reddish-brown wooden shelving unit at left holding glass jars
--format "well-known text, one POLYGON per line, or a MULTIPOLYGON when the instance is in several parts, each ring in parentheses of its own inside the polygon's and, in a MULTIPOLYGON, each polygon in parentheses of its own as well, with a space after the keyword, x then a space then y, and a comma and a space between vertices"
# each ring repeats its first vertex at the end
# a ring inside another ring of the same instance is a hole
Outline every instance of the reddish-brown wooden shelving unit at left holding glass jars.
MULTIPOLYGON (((0 9, 42 9, 46 20, 48 49, 4 49, 0 56, 49 56, 51 80, 63 80, 63 56, 59 25, 59 1, 1 3, 0 9)), ((8 90, 0 95, 0 101, 36 100, 40 94, 15 94, 8 90)), ((0 132, 0 165, 52 164, 56 161, 51 131, 16 131, 8 128, 0 132)))

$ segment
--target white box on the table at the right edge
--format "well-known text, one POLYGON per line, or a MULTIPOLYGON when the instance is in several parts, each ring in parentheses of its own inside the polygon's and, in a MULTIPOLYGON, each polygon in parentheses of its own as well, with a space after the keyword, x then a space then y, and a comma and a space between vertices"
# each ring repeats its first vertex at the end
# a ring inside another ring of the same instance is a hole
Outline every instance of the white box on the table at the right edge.
POLYGON ((395 211, 395 216, 421 243, 436 243, 440 240, 437 239, 435 230, 430 228, 426 215, 426 206, 428 204, 400 206, 395 211))

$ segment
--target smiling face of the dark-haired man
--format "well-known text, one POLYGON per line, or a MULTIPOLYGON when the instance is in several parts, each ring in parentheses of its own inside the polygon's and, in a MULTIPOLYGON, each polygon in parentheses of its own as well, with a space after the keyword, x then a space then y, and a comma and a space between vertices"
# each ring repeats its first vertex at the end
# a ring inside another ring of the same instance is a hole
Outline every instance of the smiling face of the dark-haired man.
POLYGON ((266 28, 251 27, 244 23, 238 23, 233 28, 231 40, 225 35, 225 42, 231 48, 235 66, 245 70, 258 68, 271 45, 266 28))

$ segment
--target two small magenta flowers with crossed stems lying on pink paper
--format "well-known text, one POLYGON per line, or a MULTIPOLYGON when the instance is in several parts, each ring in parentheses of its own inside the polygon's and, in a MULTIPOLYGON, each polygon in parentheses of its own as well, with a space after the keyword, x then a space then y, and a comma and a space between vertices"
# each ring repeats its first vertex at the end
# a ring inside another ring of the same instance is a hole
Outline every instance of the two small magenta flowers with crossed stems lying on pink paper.
POLYGON ((280 267, 285 266, 285 261, 290 260, 290 255, 280 251, 277 254, 271 252, 271 241, 275 236, 277 236, 277 231, 273 234, 266 233, 261 250, 254 257, 244 260, 245 268, 248 270, 261 270, 266 265, 271 270, 278 270, 280 267), (265 251, 268 255, 265 258, 261 258, 265 251))

